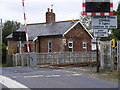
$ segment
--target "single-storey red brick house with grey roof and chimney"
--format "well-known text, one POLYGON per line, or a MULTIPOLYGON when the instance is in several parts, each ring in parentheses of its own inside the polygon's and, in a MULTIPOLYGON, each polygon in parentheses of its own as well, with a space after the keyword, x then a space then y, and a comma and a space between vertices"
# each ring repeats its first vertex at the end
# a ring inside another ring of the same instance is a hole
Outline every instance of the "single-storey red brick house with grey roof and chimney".
MULTIPOLYGON (((46 23, 28 24, 28 35, 31 52, 80 52, 91 51, 92 35, 79 20, 55 21, 53 9, 46 12, 46 23)), ((21 26, 17 31, 24 31, 21 26)), ((19 52, 12 34, 8 37, 8 54, 19 52)), ((22 42, 22 52, 26 51, 25 42, 22 42)))

